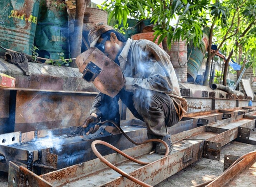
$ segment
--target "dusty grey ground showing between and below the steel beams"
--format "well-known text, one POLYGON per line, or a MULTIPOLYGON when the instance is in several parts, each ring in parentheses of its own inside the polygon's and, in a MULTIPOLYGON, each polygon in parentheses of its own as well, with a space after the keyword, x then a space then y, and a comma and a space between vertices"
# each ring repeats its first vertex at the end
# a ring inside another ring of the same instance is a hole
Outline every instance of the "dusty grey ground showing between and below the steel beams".
MULTIPOLYGON (((251 132, 251 137, 256 137, 255 131, 251 132)), ((155 187, 188 187, 199 183, 203 183, 219 176, 223 172, 224 154, 233 154, 242 156, 245 153, 256 150, 256 145, 250 145, 240 142, 231 142, 224 145, 221 149, 221 159, 219 161, 202 158, 190 166, 182 169, 182 171, 167 178, 155 187)), ((8 175, 0 172, 0 187, 7 187, 8 175)), ((250 187, 252 183, 256 183, 256 177, 250 181, 243 181, 241 186, 250 187), (253 181, 254 180, 254 181, 253 181)))

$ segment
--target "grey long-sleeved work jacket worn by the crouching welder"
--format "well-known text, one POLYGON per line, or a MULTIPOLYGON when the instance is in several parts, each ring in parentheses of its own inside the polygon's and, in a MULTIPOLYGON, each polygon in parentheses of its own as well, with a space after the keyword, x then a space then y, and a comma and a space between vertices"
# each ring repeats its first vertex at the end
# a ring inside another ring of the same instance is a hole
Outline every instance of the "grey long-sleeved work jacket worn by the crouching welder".
MULTIPOLYGON (((134 92, 140 88, 165 93, 174 102, 179 120, 186 113, 188 104, 181 97, 179 83, 170 56, 149 40, 128 38, 118 56, 126 83, 124 89, 134 92)), ((96 96, 90 110, 101 116, 100 95, 96 96)))

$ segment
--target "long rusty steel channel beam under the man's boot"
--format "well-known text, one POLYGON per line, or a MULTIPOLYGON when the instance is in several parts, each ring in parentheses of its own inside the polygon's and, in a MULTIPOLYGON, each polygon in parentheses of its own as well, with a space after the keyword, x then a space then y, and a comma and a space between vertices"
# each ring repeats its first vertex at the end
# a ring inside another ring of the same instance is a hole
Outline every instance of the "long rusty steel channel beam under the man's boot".
MULTIPOLYGON (((243 118, 243 115, 235 116, 233 117, 233 120, 225 119, 222 121, 217 121, 210 124, 210 126, 226 129, 226 131, 223 130, 223 132, 219 134, 211 132, 209 129, 207 131, 206 125, 178 133, 172 136, 174 149, 170 155, 164 158, 161 158, 161 156, 157 154, 147 155, 147 153, 150 151, 150 149, 148 149, 147 152, 143 151, 143 153, 146 154, 140 156, 139 158, 142 160, 147 159, 151 162, 154 161, 151 164, 141 167, 137 164, 132 164, 129 161, 124 161, 118 163, 118 166, 121 169, 128 170, 128 173, 130 173, 133 177, 136 177, 150 185, 155 185, 172 174, 177 173, 189 164, 202 158, 204 140, 219 143, 219 145, 223 146, 237 138, 239 126, 253 129, 254 125, 255 121, 253 119, 243 118)), ((112 160, 115 160, 115 157, 120 157, 120 155, 115 153, 112 155, 112 157, 112 160)), ((90 162, 96 163, 99 162, 99 160, 95 159, 90 162)), ((86 163, 82 164, 84 166, 86 165, 86 163)), ((54 183, 54 185, 57 186, 61 186, 67 182, 70 186, 77 186, 79 185, 79 181, 87 186, 90 186, 90 184, 98 186, 136 186, 136 184, 120 176, 119 174, 116 174, 115 172, 111 171, 111 169, 106 169, 103 167, 103 170, 99 171, 100 167, 97 167, 96 165, 90 166, 94 166, 98 168, 98 170, 93 171, 94 167, 79 167, 79 164, 77 164, 68 168, 63 168, 58 171, 44 174, 40 177, 46 179, 47 181, 51 181, 51 183, 54 183), (75 171, 75 173, 70 175, 64 174, 71 173, 71 171, 75 171), (111 176, 110 179, 108 179, 108 175, 111 176), (99 183, 95 184, 93 182, 99 183)), ((102 164, 100 166, 102 166, 102 164)))

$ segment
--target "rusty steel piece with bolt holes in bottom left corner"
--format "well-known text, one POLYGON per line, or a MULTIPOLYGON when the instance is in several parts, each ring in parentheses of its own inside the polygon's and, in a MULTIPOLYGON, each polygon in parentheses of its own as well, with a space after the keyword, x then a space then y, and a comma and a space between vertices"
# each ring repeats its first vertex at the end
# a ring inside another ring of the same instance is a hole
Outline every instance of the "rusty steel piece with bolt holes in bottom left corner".
POLYGON ((21 187, 21 186, 54 187, 48 181, 37 176, 32 171, 29 171, 27 168, 23 166, 18 167, 13 162, 10 162, 9 174, 8 174, 8 187, 21 187))

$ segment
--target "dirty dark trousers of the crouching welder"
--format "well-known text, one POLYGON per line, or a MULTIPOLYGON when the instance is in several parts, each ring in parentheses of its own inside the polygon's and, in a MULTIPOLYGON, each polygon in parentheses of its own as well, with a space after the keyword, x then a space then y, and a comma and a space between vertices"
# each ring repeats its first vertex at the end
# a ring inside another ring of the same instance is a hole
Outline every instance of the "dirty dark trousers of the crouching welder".
POLYGON ((122 89, 117 96, 111 98, 101 96, 101 121, 108 119, 120 121, 119 98, 132 114, 147 125, 148 138, 163 138, 168 132, 167 127, 175 125, 179 116, 170 96, 164 93, 140 89, 128 92, 122 89))

